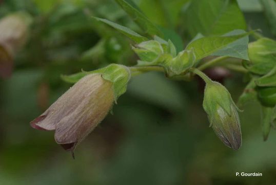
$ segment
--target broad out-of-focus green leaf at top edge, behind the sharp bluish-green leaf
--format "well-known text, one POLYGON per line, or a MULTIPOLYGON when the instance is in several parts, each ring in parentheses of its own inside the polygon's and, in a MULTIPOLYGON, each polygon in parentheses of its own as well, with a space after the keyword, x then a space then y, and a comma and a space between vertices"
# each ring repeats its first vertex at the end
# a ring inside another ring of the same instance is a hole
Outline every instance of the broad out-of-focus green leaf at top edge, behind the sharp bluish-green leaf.
POLYGON ((246 29, 246 22, 234 0, 192 0, 185 12, 185 26, 192 37, 223 34, 234 29, 246 29))

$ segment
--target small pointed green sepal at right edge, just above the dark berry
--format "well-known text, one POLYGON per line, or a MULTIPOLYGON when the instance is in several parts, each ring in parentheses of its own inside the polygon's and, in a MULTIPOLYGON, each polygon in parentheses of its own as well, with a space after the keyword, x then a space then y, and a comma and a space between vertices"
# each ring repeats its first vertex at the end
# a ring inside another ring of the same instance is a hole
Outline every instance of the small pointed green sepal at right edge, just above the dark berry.
POLYGON ((276 64, 269 73, 257 79, 255 83, 261 87, 275 87, 276 86, 276 64))

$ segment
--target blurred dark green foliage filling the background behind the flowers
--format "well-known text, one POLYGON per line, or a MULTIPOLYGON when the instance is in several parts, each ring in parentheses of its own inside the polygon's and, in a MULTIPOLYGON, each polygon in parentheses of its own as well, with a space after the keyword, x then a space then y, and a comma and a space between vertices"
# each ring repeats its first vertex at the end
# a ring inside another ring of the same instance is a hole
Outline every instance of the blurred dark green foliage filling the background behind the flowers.
MULTIPOLYGON (((134 2, 174 44, 183 47, 194 36, 186 25, 194 24, 188 0, 134 2)), ((274 4, 238 3, 248 29, 275 36, 274 4)), ((53 132, 33 130, 29 122, 70 87, 61 74, 136 63, 131 41, 91 16, 141 30, 113 0, 0 1, 0 17, 18 11, 30 14, 32 24, 14 55, 12 75, 0 80, 0 184, 276 184, 276 134, 263 142, 257 103, 240 114, 243 146, 233 151, 208 128, 200 83, 173 82, 154 72, 131 79, 114 114, 77 147, 73 160, 53 132)), ((232 72, 225 80, 235 101, 242 78, 232 72)))

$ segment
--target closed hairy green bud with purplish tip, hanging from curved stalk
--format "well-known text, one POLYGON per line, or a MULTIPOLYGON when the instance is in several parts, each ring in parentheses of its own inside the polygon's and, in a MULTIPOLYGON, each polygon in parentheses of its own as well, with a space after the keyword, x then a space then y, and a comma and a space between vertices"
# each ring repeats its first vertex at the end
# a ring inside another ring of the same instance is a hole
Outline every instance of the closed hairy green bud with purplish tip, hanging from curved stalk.
POLYGON ((242 143, 240 119, 228 90, 218 82, 206 83, 203 108, 215 134, 225 145, 238 150, 242 143))

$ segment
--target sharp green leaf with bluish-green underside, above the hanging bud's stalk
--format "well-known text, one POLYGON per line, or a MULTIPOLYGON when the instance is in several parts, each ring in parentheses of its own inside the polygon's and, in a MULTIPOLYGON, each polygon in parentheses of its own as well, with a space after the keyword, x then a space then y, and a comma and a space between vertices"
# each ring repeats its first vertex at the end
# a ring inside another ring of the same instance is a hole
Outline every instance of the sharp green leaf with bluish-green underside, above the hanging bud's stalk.
POLYGON ((211 54, 248 59, 248 34, 243 30, 234 30, 222 36, 207 36, 194 40, 186 49, 194 50, 196 60, 211 54))

